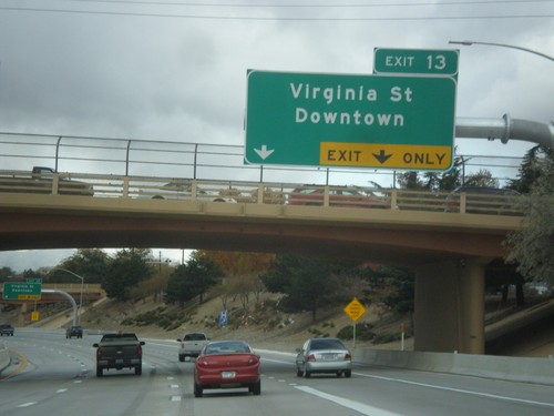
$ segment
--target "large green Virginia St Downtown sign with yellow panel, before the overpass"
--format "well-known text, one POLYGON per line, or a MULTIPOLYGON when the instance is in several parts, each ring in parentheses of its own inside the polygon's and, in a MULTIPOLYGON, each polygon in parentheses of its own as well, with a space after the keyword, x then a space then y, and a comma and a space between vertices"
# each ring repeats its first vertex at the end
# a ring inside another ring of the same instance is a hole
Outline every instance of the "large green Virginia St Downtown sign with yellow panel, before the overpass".
POLYGON ((245 163, 445 171, 455 81, 249 71, 245 163))

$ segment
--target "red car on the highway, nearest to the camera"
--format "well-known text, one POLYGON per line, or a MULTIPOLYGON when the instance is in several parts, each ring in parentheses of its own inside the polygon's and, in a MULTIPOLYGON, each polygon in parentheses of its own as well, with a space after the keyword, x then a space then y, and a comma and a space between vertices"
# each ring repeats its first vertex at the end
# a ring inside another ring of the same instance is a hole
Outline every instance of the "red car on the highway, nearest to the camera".
POLYGON ((194 397, 202 397, 206 388, 237 387, 259 395, 259 355, 244 341, 209 342, 194 365, 194 397))

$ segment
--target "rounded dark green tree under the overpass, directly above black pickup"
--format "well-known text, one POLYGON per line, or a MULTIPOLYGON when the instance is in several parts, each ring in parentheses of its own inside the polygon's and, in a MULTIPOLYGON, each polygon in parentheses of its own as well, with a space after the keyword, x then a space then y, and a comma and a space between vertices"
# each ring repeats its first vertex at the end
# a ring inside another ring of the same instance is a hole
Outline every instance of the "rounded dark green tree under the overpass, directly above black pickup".
POLYGON ((119 301, 129 301, 132 290, 142 281, 150 277, 152 268, 148 262, 153 256, 150 250, 122 250, 115 254, 107 267, 107 274, 102 281, 102 287, 107 297, 119 301))

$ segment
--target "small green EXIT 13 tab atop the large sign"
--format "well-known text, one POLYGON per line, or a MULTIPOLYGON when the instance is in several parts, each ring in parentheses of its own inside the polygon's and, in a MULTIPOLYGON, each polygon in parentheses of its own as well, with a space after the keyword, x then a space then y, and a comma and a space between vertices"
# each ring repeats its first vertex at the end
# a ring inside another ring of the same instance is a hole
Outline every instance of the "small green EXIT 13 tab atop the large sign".
POLYGON ((373 72, 456 77, 458 58, 458 50, 376 48, 373 72))

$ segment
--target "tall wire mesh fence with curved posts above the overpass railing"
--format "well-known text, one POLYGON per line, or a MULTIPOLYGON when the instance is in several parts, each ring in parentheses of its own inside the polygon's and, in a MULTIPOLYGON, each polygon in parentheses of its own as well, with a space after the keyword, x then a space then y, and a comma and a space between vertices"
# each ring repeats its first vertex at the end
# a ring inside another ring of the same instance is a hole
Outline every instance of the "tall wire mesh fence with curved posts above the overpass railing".
MULTIPOLYGON (((521 158, 456 155, 464 175, 481 169, 504 183, 514 179, 521 158)), ((248 182, 378 185, 396 187, 396 171, 348 168, 248 165, 239 145, 0 132, 0 169, 120 176, 248 182)))

